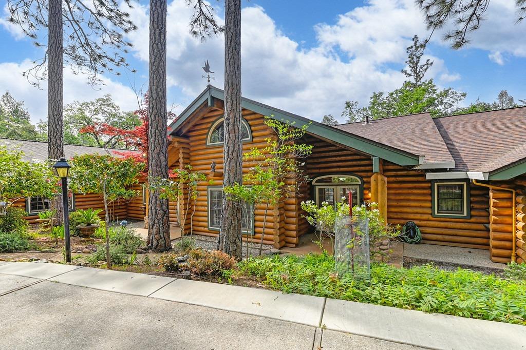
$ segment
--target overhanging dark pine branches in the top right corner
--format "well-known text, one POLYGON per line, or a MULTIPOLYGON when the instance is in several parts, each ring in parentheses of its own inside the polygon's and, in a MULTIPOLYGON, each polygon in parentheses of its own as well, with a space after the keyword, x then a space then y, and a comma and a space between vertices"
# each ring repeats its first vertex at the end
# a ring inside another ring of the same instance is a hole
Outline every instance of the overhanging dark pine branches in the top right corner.
MULTIPOLYGON (((452 48, 458 49, 469 43, 468 33, 480 27, 491 0, 416 0, 416 2, 426 16, 424 22, 428 29, 432 30, 431 35, 444 25, 452 25, 453 29, 444 34, 443 39, 450 41, 452 48)), ((520 22, 526 16, 526 0, 515 0, 515 6, 518 16, 515 21, 520 22)))

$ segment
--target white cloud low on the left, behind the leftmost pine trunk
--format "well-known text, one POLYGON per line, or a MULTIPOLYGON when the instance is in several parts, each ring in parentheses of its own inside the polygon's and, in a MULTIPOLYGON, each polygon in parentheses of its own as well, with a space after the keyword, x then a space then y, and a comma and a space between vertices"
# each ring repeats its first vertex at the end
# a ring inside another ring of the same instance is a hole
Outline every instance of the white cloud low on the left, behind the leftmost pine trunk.
MULTIPOLYGON (((39 119, 47 119, 47 83, 43 81, 41 89, 29 84, 22 73, 31 67, 33 63, 28 59, 21 63, 0 63, 0 93, 3 94, 7 90, 15 99, 24 101, 33 122, 36 122, 39 119)), ((86 83, 85 76, 75 75, 70 69, 64 69, 64 103, 92 100, 111 94, 117 105, 124 110, 137 109, 135 94, 130 88, 106 77, 103 77, 103 81, 105 85, 95 90, 86 83)))

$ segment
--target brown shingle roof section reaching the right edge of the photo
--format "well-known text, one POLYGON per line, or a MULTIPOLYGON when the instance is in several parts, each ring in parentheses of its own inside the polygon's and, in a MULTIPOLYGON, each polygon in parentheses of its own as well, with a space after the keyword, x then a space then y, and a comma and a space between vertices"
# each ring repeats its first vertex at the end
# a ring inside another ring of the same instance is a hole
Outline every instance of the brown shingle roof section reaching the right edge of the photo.
POLYGON ((454 171, 493 171, 526 158, 526 107, 434 119, 454 171))

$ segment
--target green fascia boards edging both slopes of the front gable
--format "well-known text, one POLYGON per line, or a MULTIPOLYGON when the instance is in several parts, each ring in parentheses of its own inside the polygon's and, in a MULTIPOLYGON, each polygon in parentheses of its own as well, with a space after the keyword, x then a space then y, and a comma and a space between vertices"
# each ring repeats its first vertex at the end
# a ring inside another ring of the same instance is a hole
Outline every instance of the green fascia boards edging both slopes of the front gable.
MULTIPOLYGON (((190 106, 181 112, 179 118, 170 125, 171 130, 173 130, 171 132, 175 133, 177 128, 192 114, 194 110, 203 104, 209 96, 218 98, 220 100, 225 99, 225 94, 222 90, 213 86, 208 86, 207 89, 205 89, 205 91, 203 91, 201 95, 199 95, 190 104, 190 106)), ((420 163, 419 157, 417 155, 413 155, 412 153, 382 145, 381 143, 353 135, 349 132, 327 126, 305 117, 291 114, 284 110, 261 104, 254 100, 241 98, 241 106, 245 109, 274 118, 276 120, 293 122, 297 127, 302 127, 310 123, 307 132, 312 135, 340 143, 340 145, 356 149, 374 157, 385 159, 400 166, 417 166, 420 163)))

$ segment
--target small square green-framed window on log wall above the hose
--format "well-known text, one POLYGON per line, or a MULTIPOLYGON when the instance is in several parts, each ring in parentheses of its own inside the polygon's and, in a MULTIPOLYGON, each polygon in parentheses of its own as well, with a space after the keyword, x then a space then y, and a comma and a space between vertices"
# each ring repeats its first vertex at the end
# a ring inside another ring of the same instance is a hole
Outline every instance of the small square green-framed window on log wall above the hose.
POLYGON ((433 181, 431 199, 435 218, 471 217, 468 181, 433 181))

